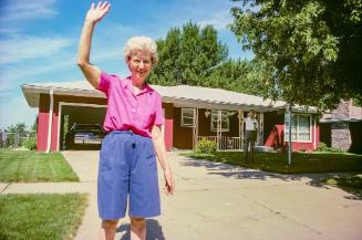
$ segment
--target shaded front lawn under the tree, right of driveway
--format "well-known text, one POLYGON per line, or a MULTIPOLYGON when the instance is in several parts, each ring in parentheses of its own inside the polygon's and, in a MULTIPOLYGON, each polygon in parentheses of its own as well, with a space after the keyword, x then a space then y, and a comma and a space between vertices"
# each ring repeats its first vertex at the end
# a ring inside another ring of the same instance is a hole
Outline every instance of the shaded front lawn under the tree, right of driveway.
POLYGON ((293 153, 291 166, 286 153, 256 153, 255 161, 247 164, 241 152, 182 155, 278 174, 362 173, 362 155, 345 153, 293 153))

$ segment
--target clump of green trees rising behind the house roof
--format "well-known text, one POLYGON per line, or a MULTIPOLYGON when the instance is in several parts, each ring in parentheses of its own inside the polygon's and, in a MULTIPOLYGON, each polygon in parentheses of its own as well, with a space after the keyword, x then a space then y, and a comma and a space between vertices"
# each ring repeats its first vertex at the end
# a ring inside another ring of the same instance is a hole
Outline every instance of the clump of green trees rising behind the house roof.
POLYGON ((227 60, 228 49, 217 41, 211 25, 188 22, 173 28, 157 40, 158 64, 149 82, 159 85, 187 84, 262 95, 263 66, 256 62, 227 60))

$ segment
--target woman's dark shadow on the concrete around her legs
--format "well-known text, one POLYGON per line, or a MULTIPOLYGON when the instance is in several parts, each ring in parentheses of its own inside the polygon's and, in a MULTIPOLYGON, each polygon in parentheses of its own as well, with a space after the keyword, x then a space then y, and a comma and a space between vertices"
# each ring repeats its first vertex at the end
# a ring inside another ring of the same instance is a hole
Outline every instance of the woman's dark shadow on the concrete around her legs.
MULTIPOLYGON (((147 240, 165 240, 164 232, 157 220, 147 219, 146 222, 147 222, 147 233, 146 233, 147 240)), ((131 226, 128 223, 122 225, 116 230, 116 232, 123 232, 123 231, 126 231, 126 233, 123 234, 123 237, 120 240, 131 239, 131 226)))

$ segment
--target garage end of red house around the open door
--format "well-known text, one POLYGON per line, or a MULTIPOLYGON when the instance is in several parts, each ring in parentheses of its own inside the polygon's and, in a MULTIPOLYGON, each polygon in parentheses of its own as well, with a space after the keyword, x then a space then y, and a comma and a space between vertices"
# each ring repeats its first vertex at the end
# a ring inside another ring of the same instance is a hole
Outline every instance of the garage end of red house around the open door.
MULTIPOLYGON (((64 133, 74 123, 103 124, 106 97, 86 81, 23 84, 21 88, 29 106, 39 108, 38 150, 66 149, 64 133)), ((100 145, 93 148, 99 149, 100 145)))

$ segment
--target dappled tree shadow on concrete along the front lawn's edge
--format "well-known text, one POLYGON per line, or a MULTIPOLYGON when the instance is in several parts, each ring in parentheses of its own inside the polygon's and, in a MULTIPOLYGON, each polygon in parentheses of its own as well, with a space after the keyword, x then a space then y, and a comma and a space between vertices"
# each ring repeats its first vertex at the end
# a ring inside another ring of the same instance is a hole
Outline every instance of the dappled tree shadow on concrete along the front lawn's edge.
MULTIPOLYGON (((257 180, 267 180, 267 179, 279 179, 282 181, 301 181, 307 185, 330 189, 331 186, 324 184, 323 180, 327 178, 334 178, 334 177, 344 177, 348 176, 348 173, 324 173, 324 174, 276 174, 270 171, 263 171, 257 168, 256 165, 252 163, 247 164, 246 167, 244 166, 235 166, 225 163, 216 163, 207 159, 196 159, 193 157, 184 156, 184 161, 180 163, 183 166, 192 166, 192 167, 204 167, 208 170, 208 175, 219 175, 227 178, 235 178, 235 179, 257 179, 257 180), (250 168, 248 168, 250 167, 250 168)), ((348 190, 345 188, 341 188, 345 192, 352 196, 345 196, 348 199, 353 200, 362 200, 361 191, 358 190, 348 190)))

